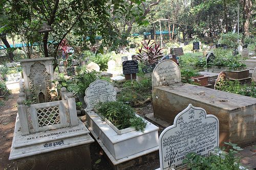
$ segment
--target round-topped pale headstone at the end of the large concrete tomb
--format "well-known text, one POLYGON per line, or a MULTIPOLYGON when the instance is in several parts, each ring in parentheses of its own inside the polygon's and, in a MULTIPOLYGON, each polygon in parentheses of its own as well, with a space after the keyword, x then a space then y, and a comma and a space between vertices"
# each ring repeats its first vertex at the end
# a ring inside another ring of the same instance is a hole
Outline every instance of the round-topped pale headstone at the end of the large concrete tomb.
POLYGON ((152 72, 152 87, 167 86, 181 82, 179 66, 172 60, 163 60, 152 72))

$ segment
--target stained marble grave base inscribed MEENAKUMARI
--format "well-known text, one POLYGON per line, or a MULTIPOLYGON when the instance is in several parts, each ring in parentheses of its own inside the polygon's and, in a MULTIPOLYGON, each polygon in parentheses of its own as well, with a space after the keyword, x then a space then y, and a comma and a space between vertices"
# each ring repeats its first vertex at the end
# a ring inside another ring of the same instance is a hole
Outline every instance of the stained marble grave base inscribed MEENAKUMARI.
POLYGON ((18 169, 91 169, 89 133, 78 120, 77 126, 22 135, 17 116, 9 160, 18 169))

